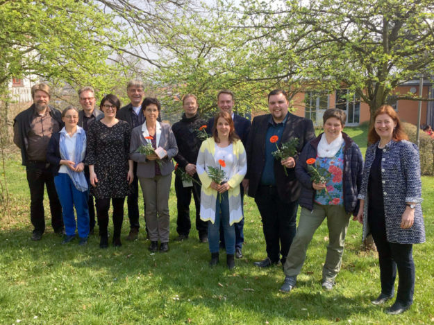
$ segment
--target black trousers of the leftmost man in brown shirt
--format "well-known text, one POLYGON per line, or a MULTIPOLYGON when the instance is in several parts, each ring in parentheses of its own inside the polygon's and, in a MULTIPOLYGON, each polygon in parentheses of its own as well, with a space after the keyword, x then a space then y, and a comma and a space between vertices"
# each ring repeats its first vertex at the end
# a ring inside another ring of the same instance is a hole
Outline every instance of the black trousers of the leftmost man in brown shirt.
POLYGON ((54 177, 45 162, 29 161, 26 164, 28 188, 30 188, 30 220, 33 232, 43 234, 45 231, 44 186, 50 202, 51 226, 54 231, 63 229, 62 206, 54 186, 54 177))

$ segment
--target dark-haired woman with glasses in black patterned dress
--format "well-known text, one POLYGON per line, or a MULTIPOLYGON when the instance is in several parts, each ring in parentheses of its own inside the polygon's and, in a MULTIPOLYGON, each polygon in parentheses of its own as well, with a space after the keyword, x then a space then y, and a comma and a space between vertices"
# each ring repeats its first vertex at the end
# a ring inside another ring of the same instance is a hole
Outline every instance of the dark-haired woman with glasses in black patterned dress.
POLYGON ((126 121, 116 118, 120 106, 115 95, 106 95, 99 105, 104 117, 92 123, 87 134, 85 162, 89 165, 91 192, 96 199, 101 248, 108 247, 110 200, 113 205, 113 245, 122 245, 124 200, 133 182, 133 161, 128 159, 131 128, 126 121))

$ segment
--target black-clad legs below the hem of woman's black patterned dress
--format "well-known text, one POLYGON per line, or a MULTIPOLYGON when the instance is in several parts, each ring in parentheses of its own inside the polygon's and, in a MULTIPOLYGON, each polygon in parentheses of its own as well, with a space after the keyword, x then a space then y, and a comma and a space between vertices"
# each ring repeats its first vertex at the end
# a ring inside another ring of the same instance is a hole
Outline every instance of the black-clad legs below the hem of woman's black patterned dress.
POLYGON ((99 225, 99 236, 107 236, 108 209, 110 200, 113 204, 113 238, 121 236, 122 222, 124 221, 124 202, 125 197, 112 197, 111 199, 96 199, 97 217, 99 225))

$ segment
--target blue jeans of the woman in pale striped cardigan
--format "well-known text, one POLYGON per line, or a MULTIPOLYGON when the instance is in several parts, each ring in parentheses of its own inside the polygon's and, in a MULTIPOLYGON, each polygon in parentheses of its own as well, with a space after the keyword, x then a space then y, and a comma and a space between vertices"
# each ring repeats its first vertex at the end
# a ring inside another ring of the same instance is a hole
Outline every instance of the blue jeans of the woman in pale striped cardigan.
POLYGON ((228 191, 224 192, 220 196, 222 198, 222 202, 220 202, 219 196, 217 196, 217 200, 215 200, 214 224, 208 221, 208 243, 210 245, 211 253, 219 252, 219 240, 220 240, 219 229, 220 229, 220 222, 222 222, 226 254, 233 255, 235 254, 235 227, 234 225, 232 226, 229 225, 228 191))

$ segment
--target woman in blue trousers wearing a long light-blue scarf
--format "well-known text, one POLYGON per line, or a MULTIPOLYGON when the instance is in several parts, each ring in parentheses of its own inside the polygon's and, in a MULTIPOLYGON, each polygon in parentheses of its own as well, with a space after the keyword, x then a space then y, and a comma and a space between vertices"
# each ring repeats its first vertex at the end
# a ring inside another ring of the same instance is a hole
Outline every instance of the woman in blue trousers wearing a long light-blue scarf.
POLYGON ((86 134, 83 128, 77 125, 76 107, 65 108, 62 112, 62 121, 65 126, 60 132, 53 133, 47 148, 47 161, 51 164, 65 224, 66 234, 62 244, 74 240, 77 226, 79 245, 85 245, 89 236, 89 209, 87 208, 89 188, 83 171, 86 134), (74 207, 77 213, 77 224, 74 207))

